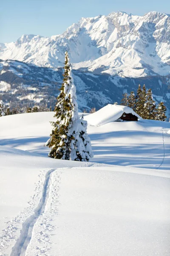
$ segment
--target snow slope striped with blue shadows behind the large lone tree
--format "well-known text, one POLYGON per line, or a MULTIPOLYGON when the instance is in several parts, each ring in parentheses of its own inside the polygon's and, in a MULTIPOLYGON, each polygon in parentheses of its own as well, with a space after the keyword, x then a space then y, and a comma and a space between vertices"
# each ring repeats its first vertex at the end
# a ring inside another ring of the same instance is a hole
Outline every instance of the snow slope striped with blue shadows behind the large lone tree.
MULTIPOLYGON (((96 112, 97 113, 97 112, 96 112)), ((101 116, 101 122, 105 120, 101 116)), ((0 118, 0 145, 47 156, 44 147, 51 133, 53 112, 26 113, 0 118), (12 127, 12 129, 11 129, 12 127)), ((93 114, 85 116, 90 119, 93 114)), ((93 162, 170 169, 170 122, 141 119, 88 126, 94 151, 93 162), (163 130, 163 131, 162 131, 163 130), (163 160, 163 163, 162 163, 163 160)))

